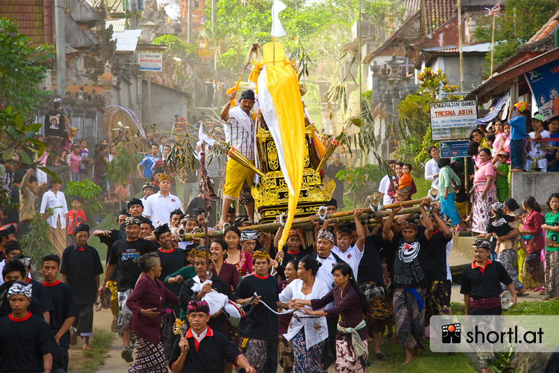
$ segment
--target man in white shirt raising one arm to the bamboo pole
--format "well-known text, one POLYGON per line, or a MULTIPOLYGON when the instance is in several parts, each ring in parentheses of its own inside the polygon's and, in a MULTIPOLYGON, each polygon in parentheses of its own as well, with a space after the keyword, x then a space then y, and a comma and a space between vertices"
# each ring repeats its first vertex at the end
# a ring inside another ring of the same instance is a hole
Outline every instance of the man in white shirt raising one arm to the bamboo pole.
POLYGON ((340 227, 337 230, 337 246, 332 248, 332 252, 351 267, 354 272, 354 279, 357 279, 357 269, 361 258, 363 258, 363 247, 365 246, 365 229, 363 229, 361 220, 359 220, 362 213, 363 209, 354 209, 354 222, 357 231, 355 244, 351 245, 354 240, 353 232, 347 227, 340 227))

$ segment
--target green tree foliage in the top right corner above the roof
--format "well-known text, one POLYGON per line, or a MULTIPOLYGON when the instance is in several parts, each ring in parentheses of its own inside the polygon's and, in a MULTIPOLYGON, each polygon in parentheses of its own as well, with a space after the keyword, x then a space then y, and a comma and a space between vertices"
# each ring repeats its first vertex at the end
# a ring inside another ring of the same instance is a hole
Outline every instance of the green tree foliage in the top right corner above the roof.
MULTIPOLYGON (((495 18, 495 52, 493 64, 497 66, 514 55, 558 10, 553 0, 507 0, 500 17, 495 18)), ((476 41, 491 42, 491 17, 481 17, 480 27, 474 31, 476 41)), ((486 73, 491 67, 491 53, 486 55, 486 73)))

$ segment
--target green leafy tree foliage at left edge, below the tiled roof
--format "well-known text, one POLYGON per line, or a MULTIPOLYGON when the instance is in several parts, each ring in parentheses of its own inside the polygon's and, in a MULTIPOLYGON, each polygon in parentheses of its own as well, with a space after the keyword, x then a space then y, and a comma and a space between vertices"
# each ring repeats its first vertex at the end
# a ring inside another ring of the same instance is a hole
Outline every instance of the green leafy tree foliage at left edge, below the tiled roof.
POLYGON ((12 106, 27 117, 46 97, 41 83, 50 69, 52 45, 33 46, 12 20, 0 19, 0 106, 12 106))

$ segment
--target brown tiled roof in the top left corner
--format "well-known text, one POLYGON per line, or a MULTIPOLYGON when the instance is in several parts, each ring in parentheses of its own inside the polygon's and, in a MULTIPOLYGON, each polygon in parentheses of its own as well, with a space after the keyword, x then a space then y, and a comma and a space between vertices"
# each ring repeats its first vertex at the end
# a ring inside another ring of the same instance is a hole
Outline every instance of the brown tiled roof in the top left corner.
POLYGON ((52 0, 2 0, 0 16, 14 20, 31 43, 52 43, 52 0))

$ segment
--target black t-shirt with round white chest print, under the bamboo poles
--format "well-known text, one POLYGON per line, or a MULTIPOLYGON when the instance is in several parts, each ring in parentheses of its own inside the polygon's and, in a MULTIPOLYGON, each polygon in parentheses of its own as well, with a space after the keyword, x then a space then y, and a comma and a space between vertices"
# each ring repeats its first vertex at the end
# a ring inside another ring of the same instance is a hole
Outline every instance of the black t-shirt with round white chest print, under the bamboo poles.
POLYGON ((407 243, 401 236, 394 236, 390 246, 394 253, 394 285, 398 288, 426 287, 423 262, 429 242, 423 230, 419 230, 413 242, 407 243))

